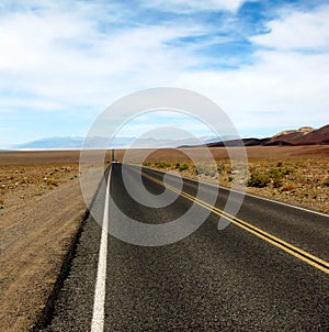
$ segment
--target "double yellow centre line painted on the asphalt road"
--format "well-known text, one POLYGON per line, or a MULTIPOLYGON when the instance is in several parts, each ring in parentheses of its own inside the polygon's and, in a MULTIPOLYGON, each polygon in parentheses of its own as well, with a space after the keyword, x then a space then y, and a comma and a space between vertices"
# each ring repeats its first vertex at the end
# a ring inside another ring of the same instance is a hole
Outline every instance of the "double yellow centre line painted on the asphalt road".
POLYGON ((237 226, 239 226, 239 228, 246 230, 247 232, 249 232, 249 233, 251 233, 251 234, 253 234, 253 235, 271 243, 272 245, 275 245, 276 247, 279 247, 279 248, 287 252, 288 254, 306 262, 307 264, 322 270, 324 273, 329 274, 329 263, 328 262, 326 262, 326 261, 324 261, 319 257, 316 257, 316 256, 314 256, 314 255, 311 255, 311 254, 309 254, 309 253, 292 245, 291 243, 288 243, 286 241, 283 241, 281 239, 279 239, 279 237, 276 237, 276 236, 274 236, 274 235, 272 235, 268 232, 264 232, 263 230, 261 230, 261 229, 259 229, 259 228, 257 228, 257 226, 254 226, 254 225, 252 225, 252 224, 250 224, 250 223, 248 223, 248 222, 246 222, 246 221, 243 221, 243 220, 241 220, 241 219, 239 219, 235 215, 231 215, 231 214, 229 214, 229 213, 227 213, 227 212, 225 212, 225 211, 223 211, 223 210, 220 210, 216 207, 213 207, 212 204, 208 204, 207 202, 202 201, 202 200, 193 197, 190 193, 186 193, 184 191, 180 191, 177 188, 174 188, 173 186, 164 184, 163 181, 156 179, 155 177, 146 174, 145 171, 143 171, 143 176, 150 179, 150 180, 152 180, 154 182, 157 182, 160 186, 163 186, 163 187, 170 189, 171 191, 174 191, 174 192, 179 193, 180 196, 182 196, 182 197, 200 204, 201 207, 212 211, 213 213, 225 218, 226 220, 230 221, 231 223, 236 224, 237 226))

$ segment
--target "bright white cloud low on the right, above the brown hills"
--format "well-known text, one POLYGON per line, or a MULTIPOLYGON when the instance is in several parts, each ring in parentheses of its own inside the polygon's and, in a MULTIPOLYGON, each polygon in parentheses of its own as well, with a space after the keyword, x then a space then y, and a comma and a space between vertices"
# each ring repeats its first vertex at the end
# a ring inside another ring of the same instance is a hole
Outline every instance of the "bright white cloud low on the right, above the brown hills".
POLYGON ((242 131, 328 122, 329 56, 260 52, 234 71, 186 73, 178 86, 216 101, 242 131))

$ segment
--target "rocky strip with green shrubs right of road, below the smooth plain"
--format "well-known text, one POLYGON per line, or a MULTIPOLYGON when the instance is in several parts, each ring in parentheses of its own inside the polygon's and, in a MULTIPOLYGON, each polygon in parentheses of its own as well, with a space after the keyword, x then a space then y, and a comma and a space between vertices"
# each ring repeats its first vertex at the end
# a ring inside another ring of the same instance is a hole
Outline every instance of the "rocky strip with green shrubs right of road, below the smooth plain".
POLYGON ((300 208, 329 213, 329 158, 299 159, 249 159, 248 176, 235 180, 235 171, 228 161, 223 159, 218 169, 191 163, 144 163, 147 167, 162 171, 174 171, 183 177, 236 188, 248 193, 291 203, 300 208), (247 184, 247 187, 243 186, 247 184), (240 185, 240 186, 239 186, 240 185))

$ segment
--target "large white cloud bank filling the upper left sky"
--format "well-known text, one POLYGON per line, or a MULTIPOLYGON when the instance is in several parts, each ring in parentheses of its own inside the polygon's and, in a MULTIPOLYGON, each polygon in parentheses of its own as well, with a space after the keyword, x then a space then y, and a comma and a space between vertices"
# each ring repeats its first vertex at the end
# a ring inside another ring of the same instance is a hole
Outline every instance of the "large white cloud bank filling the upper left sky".
POLYGON ((167 81, 166 77, 197 63, 167 42, 191 35, 198 26, 137 26, 105 34, 84 15, 86 10, 81 12, 2 18, 0 88, 8 89, 11 82, 18 91, 13 97, 27 91, 67 104, 104 107, 123 92, 167 81))

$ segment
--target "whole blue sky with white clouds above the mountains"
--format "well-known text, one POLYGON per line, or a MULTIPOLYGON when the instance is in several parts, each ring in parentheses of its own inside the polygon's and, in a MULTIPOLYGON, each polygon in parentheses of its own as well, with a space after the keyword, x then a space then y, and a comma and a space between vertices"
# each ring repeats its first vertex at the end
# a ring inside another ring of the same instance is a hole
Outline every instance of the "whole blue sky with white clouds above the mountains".
POLYGON ((328 1, 0 0, 0 148, 83 136, 106 106, 163 86, 211 98, 241 136, 327 124, 328 1))

